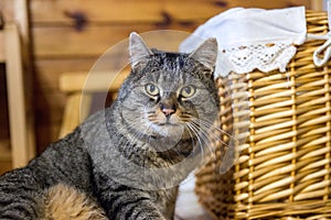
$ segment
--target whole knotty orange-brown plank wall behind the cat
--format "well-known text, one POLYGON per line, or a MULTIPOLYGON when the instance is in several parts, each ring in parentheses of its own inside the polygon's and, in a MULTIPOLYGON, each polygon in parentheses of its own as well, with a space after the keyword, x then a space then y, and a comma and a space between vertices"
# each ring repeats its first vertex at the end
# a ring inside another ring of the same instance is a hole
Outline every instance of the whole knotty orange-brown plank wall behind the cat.
POLYGON ((65 95, 58 77, 88 70, 111 45, 152 30, 192 32, 233 7, 285 8, 308 0, 30 0, 36 141, 42 151, 58 135, 65 95))

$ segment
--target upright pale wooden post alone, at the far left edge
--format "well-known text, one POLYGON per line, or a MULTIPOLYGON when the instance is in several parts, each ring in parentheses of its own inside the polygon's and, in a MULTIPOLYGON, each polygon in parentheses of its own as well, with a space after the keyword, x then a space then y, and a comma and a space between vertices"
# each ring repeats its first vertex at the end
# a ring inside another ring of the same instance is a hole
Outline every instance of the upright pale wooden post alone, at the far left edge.
POLYGON ((6 67, 12 164, 13 167, 20 167, 26 165, 34 156, 34 146, 29 145, 32 138, 30 139, 26 133, 29 127, 26 120, 21 47, 17 25, 6 25, 4 34, 4 54, 8 57, 6 59, 6 67))

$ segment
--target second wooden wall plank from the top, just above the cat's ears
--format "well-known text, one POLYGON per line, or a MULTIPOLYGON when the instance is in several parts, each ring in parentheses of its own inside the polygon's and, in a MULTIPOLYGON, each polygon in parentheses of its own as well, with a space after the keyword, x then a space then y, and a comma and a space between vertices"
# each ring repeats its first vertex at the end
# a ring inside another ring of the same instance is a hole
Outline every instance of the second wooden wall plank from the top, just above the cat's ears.
MULTIPOLYGON (((188 36, 194 29, 193 26, 194 24, 174 25, 167 26, 167 29, 186 32, 185 34, 179 33, 181 36, 179 40, 183 40, 183 35, 188 36)), ((128 40, 132 31, 146 33, 156 30, 157 26, 149 24, 88 26, 82 32, 77 32, 70 26, 33 28, 34 52, 36 58, 99 56, 119 42, 128 40)), ((179 40, 172 41, 173 38, 167 38, 164 41, 164 32, 160 32, 154 34, 153 41, 158 41, 156 42, 157 45, 172 48, 179 44, 179 40)))

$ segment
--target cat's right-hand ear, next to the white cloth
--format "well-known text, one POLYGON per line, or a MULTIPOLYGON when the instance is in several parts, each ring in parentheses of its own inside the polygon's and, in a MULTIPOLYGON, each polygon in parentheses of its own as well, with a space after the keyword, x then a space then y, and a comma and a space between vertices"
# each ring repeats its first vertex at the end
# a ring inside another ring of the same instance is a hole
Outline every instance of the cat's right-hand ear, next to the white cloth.
POLYGON ((216 38, 209 38, 203 42, 195 51, 193 51, 190 54, 190 57, 195 59, 196 62, 200 62, 213 72, 217 59, 217 52, 218 46, 216 38))

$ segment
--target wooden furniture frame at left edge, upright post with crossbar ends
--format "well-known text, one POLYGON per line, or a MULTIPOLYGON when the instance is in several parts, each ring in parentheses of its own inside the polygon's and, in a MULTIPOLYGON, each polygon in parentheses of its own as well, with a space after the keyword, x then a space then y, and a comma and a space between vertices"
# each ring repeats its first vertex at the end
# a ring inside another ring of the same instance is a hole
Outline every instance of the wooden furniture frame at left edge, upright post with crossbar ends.
POLYGON ((0 62, 6 65, 9 106, 10 141, 1 142, 1 160, 12 162, 12 167, 21 167, 34 156, 33 123, 26 114, 21 42, 18 25, 8 23, 0 31, 0 62))

